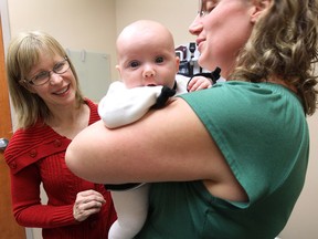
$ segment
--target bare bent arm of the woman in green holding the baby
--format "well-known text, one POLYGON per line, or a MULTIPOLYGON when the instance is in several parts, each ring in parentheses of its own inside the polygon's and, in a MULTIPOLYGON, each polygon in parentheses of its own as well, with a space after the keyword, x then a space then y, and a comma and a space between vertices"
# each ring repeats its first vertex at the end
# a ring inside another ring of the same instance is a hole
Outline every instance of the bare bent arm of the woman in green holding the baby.
MULTIPOLYGON (((68 146, 66 164, 95 183, 218 180, 223 156, 181 98, 135 124, 85 128, 68 146)), ((223 166, 224 167, 224 166, 223 166)))

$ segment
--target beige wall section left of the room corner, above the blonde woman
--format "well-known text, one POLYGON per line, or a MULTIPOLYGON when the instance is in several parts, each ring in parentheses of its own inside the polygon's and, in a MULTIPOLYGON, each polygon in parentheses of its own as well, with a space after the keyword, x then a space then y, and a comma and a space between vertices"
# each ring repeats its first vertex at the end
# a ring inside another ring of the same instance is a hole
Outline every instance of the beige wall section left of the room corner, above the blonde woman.
MULTIPOLYGON (((4 1, 4 0, 1 0, 4 1)), ((54 35, 64 48, 110 54, 115 70, 115 0, 8 0, 11 35, 42 30, 54 35)))

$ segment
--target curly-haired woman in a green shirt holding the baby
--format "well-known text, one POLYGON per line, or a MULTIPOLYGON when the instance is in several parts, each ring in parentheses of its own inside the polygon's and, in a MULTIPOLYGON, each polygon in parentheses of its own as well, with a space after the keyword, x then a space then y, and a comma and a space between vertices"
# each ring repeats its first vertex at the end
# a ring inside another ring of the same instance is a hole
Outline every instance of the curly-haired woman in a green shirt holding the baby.
POLYGON ((306 177, 317 4, 200 0, 199 64, 229 81, 118 129, 97 122, 71 143, 67 166, 96 183, 153 183, 136 238, 275 238, 306 177))

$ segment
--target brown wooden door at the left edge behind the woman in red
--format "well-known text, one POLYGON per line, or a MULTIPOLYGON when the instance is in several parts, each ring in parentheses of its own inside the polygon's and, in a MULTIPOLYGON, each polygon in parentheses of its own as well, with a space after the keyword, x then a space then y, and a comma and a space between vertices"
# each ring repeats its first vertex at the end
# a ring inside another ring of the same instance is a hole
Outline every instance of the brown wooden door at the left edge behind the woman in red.
MULTIPOLYGON (((12 136, 11 132, 11 112, 6 80, 4 48, 2 38, 2 24, 0 19, 0 138, 10 139, 12 136)), ((0 238, 25 238, 25 229, 17 224, 12 215, 9 167, 4 162, 2 150, 0 150, 0 238)))

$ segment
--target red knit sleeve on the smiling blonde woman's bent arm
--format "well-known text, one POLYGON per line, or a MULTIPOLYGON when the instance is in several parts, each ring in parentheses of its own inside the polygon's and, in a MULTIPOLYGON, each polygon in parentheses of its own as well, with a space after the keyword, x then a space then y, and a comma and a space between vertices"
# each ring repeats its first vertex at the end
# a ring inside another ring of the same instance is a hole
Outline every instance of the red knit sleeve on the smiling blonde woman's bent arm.
POLYGON ((40 198, 40 173, 35 165, 11 174, 13 215, 23 227, 54 228, 77 224, 73 205, 46 206, 40 198))

